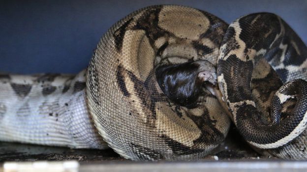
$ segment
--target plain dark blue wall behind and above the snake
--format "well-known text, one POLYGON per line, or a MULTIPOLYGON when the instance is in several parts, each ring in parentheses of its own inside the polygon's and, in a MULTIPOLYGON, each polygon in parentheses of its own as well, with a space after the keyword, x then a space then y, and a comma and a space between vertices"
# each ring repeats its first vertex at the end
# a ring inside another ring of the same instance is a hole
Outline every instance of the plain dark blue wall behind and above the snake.
POLYGON ((154 4, 195 7, 228 23, 273 12, 307 43, 307 0, 0 0, 0 71, 77 73, 110 26, 154 4))

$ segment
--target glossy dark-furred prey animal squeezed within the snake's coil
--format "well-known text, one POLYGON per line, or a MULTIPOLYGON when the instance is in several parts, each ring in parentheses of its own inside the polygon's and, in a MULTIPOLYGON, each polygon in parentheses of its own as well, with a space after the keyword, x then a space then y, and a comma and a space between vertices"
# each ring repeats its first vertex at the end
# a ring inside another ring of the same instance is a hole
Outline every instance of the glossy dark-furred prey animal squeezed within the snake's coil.
POLYGON ((207 60, 159 66, 155 74, 163 93, 184 107, 196 105, 204 84, 215 86, 217 83, 215 67, 207 60))

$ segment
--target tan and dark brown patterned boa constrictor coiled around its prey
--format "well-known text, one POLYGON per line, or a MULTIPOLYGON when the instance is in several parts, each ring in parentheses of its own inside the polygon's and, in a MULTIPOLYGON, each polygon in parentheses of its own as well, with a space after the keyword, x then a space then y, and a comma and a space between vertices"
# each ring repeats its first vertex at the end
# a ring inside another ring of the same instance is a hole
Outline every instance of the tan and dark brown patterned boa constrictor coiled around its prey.
POLYGON ((233 120, 255 148, 307 159, 306 58, 271 13, 228 26, 194 8, 146 7, 109 29, 76 76, 0 75, 0 140, 193 160, 233 120))

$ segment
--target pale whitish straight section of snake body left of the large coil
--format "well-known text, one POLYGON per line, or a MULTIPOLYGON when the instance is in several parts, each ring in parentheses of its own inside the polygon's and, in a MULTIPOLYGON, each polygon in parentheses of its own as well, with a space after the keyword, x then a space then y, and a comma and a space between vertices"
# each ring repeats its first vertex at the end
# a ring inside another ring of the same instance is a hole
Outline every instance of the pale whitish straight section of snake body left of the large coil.
POLYGON ((0 140, 106 148, 88 112, 85 75, 0 75, 0 140))

